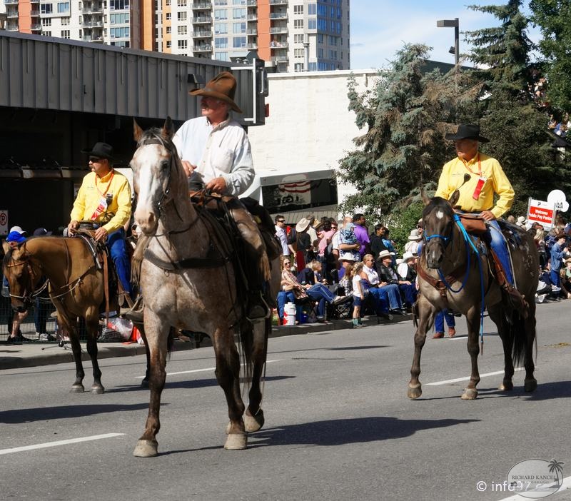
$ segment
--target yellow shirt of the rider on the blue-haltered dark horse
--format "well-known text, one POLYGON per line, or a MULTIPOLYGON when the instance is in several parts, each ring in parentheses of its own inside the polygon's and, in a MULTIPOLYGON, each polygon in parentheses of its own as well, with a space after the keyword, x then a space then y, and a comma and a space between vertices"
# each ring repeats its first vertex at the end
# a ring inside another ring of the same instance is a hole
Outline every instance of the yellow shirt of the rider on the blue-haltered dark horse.
POLYGON ((448 200, 454 191, 460 188, 460 198, 458 205, 466 212, 492 211, 492 214, 499 218, 510 210, 513 203, 514 192, 510 181, 495 158, 477 153, 469 162, 464 162, 460 158, 454 158, 445 163, 438 188, 434 196, 440 196, 448 200), (464 186, 464 175, 470 174, 470 181, 464 186), (477 200, 473 198, 478 183, 482 176, 485 183, 477 200), (494 193, 499 197, 494 205, 494 193))

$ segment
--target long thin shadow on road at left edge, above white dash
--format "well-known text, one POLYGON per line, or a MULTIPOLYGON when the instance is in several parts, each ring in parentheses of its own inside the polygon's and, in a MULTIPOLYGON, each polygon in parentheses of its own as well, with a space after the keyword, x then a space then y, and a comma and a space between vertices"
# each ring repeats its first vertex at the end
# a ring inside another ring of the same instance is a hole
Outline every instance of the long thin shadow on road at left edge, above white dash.
MULTIPOLYGON (((165 404, 162 404, 165 405, 165 404)), ((61 420, 70 417, 84 417, 107 413, 123 413, 132 410, 148 408, 148 403, 138 404, 103 404, 103 405, 62 405, 61 407, 46 407, 32 409, 14 409, 0 412, 0 422, 20 424, 24 422, 61 420)))

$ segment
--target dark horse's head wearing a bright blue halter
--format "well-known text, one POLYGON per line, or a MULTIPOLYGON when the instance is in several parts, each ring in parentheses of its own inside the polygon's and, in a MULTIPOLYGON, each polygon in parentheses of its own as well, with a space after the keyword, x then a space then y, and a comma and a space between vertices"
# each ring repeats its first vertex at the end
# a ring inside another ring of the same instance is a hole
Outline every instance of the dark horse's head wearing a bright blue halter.
POLYGON ((435 197, 428 202, 423 211, 424 253, 428 268, 440 268, 445 248, 452 238, 454 211, 450 202, 435 197))

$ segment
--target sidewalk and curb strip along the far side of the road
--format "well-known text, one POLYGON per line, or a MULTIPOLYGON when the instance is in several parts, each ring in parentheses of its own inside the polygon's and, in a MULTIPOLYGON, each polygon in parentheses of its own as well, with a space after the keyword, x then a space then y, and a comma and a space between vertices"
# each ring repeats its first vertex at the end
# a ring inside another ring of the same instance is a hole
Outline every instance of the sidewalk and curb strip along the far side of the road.
MULTIPOLYGON (((408 321, 412 315, 395 316, 392 321, 375 316, 363 318, 364 325, 386 325, 408 321)), ((332 330, 350 329, 351 320, 332 320, 326 323, 307 323, 303 325, 280 325, 272 328, 271 338, 279 338, 285 335, 299 335, 310 333, 326 333, 332 330)), ((212 346, 210 338, 204 338, 201 348, 212 346)), ((133 357, 144 355, 145 347, 138 343, 97 343, 98 359, 115 357, 133 357)), ((193 342, 176 340, 173 351, 192 350, 195 348, 193 342)), ((86 343, 81 343, 81 359, 91 361, 86 350, 86 343)), ((36 367, 38 365, 51 365, 56 363, 69 363, 74 361, 71 353, 71 346, 66 344, 62 348, 56 343, 23 343, 21 345, 6 345, 0 343, 0 370, 18 369, 26 367, 36 367)))

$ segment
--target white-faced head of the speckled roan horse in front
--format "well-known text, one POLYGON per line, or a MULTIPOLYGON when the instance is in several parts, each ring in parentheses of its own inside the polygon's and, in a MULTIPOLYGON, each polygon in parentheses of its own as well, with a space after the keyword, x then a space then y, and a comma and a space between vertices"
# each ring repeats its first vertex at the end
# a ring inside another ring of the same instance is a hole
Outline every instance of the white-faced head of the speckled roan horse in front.
POLYGON ((137 194, 135 221, 145 235, 153 235, 166 204, 181 190, 188 193, 186 175, 172 142, 173 122, 167 117, 163 128, 143 131, 133 120, 137 149, 131 159, 133 186, 137 194))

